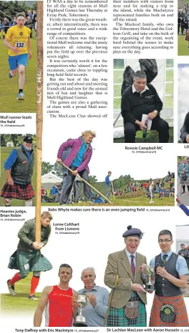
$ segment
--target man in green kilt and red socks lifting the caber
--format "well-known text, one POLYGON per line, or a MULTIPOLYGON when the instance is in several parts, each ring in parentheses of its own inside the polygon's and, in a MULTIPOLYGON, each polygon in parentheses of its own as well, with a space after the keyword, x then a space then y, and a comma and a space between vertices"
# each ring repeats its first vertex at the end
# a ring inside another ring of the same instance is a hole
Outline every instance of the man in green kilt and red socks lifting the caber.
POLYGON ((11 280, 8 280, 8 289, 10 294, 15 296, 14 284, 19 280, 26 278, 29 271, 33 272, 33 277, 31 278, 31 289, 29 293, 29 299, 37 299, 35 296, 36 288, 38 287, 40 272, 49 271, 52 269, 51 263, 45 256, 40 252, 43 248, 51 234, 50 222, 53 219, 51 213, 44 211, 41 215, 41 242, 35 241, 36 233, 36 221, 35 219, 30 219, 25 222, 21 230, 18 232, 18 247, 16 252, 10 257, 10 263, 8 268, 18 269, 19 272, 16 273, 11 280))

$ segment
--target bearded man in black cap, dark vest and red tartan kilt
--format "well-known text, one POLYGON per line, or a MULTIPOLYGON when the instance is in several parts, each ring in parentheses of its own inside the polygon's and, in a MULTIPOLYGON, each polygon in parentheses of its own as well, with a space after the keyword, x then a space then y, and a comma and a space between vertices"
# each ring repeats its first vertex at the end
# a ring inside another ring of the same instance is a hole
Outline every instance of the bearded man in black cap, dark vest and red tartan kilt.
POLYGON ((21 147, 12 150, 4 164, 7 181, 1 191, 5 206, 10 207, 12 199, 25 200, 25 206, 32 206, 34 189, 31 178, 34 173, 34 150, 32 137, 26 136, 21 147))

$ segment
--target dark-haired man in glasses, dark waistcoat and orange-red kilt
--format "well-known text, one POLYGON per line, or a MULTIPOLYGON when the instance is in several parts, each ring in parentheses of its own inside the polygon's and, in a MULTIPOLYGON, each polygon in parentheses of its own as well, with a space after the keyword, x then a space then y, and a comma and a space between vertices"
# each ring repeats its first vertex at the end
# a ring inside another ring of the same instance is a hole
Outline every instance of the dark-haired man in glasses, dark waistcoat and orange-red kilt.
POLYGON ((186 288, 188 267, 186 260, 171 250, 171 231, 158 235, 162 252, 151 259, 156 265, 155 295, 151 308, 150 327, 188 327, 188 315, 180 288, 186 288))

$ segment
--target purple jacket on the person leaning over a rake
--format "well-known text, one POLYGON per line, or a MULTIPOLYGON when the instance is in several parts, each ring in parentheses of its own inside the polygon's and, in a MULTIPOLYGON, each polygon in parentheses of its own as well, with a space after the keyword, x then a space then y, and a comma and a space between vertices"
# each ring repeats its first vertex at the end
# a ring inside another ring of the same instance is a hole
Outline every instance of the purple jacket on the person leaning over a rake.
MULTIPOLYGON (((63 151, 66 148, 71 148, 70 154, 64 160, 64 164, 67 167, 69 167, 71 165, 71 163, 73 162, 73 160, 75 159, 75 157, 77 157, 77 153, 79 152, 79 149, 81 148, 82 144, 83 144, 83 141, 82 141, 81 137, 78 137, 78 139, 71 139, 71 140, 64 142, 58 150, 58 158, 62 159, 63 151)), ((83 159, 81 165, 79 165, 79 167, 77 168, 78 172, 83 171, 85 169, 89 172, 88 163, 90 162, 91 157, 92 157, 92 146, 89 144, 88 148, 85 152, 84 159, 83 159)))

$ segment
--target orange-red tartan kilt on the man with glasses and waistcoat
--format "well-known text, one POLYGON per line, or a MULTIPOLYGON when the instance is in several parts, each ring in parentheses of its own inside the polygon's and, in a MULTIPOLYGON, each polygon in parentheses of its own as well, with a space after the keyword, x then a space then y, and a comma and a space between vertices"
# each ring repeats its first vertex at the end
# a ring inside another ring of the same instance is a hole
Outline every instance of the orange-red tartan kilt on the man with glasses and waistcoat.
POLYGON ((149 321, 149 327, 188 327, 188 315, 186 312, 186 306, 184 299, 181 295, 172 297, 154 296, 153 305, 151 308, 151 317, 149 321), (175 308, 175 321, 172 323, 165 323, 160 319, 160 308, 163 304, 171 304, 175 308))

